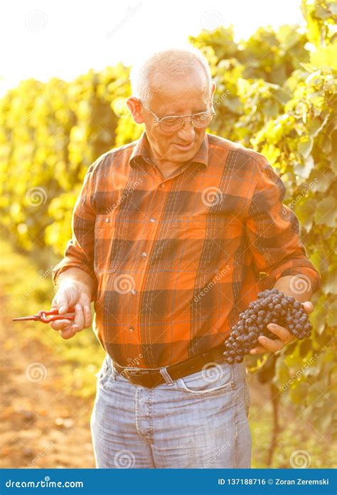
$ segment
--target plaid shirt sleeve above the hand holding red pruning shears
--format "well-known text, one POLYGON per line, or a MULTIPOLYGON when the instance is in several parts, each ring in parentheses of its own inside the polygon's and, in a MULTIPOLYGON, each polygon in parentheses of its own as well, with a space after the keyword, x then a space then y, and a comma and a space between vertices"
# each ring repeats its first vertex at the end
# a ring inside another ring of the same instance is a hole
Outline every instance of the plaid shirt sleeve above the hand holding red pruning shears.
POLYGON ((80 268, 91 277, 94 284, 92 301, 97 296, 97 278, 94 272, 95 218, 96 211, 92 208, 94 191, 95 162, 92 164, 83 181, 82 189, 77 197, 71 222, 72 238, 68 240, 64 257, 53 268, 52 280, 54 286, 60 273, 68 268, 80 268))

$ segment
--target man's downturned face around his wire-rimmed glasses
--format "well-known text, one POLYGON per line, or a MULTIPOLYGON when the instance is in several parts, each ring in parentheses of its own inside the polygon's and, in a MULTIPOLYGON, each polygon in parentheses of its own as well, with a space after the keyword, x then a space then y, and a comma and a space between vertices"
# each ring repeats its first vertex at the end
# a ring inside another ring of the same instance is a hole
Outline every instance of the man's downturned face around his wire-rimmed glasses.
MULTIPOLYGON (((159 118, 210 110, 211 91, 202 69, 193 70, 180 80, 157 76, 152 88, 151 100, 146 105, 159 118)), ((205 136, 205 127, 193 128, 186 121, 178 131, 164 132, 146 107, 141 112, 155 159, 182 163, 193 158, 205 136)))

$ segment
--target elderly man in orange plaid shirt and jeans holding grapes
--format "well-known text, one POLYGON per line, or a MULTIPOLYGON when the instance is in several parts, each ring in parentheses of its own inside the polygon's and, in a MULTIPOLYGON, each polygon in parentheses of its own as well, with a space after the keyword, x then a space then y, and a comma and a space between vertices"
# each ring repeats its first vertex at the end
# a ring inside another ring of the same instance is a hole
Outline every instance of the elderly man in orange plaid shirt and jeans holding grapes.
MULTIPOLYGON (((106 351, 91 428, 100 468, 247 468, 245 364, 223 351, 264 288, 305 302, 319 288, 284 184, 255 151, 206 133, 215 85, 198 50, 163 50, 132 74, 145 131, 90 166, 73 238, 53 270, 63 339, 91 324, 106 351), (297 282, 304 289, 296 289, 297 282), (300 293, 299 293, 300 292, 300 293)), ((292 337, 270 325, 251 353, 292 337)))

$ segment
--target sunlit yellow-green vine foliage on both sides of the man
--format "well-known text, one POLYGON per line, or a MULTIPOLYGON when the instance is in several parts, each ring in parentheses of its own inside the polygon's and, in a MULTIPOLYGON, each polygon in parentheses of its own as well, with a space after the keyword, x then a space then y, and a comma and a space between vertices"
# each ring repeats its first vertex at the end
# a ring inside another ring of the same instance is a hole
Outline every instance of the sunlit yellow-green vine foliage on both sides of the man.
MULTIPOLYGON (((267 157, 286 183, 285 203, 321 273, 313 339, 269 358, 260 377, 327 432, 336 421, 337 5, 303 1, 301 11, 305 30, 259 28, 235 43, 232 28, 222 27, 190 41, 216 82, 210 132, 267 157)), ((73 82, 25 80, 2 98, 1 223, 16 245, 63 255, 87 167, 142 132, 127 112, 129 95, 129 68, 119 64, 73 82)))

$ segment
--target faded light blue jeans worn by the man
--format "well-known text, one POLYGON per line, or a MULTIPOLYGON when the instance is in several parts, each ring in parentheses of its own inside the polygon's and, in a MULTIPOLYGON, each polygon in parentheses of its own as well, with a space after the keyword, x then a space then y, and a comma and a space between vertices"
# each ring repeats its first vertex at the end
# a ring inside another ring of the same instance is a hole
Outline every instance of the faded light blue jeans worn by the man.
POLYGON ((90 420, 97 468, 249 468, 245 363, 214 363, 146 388, 106 356, 90 420))

